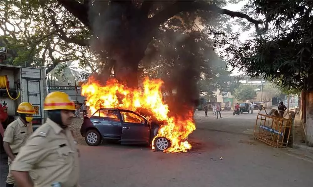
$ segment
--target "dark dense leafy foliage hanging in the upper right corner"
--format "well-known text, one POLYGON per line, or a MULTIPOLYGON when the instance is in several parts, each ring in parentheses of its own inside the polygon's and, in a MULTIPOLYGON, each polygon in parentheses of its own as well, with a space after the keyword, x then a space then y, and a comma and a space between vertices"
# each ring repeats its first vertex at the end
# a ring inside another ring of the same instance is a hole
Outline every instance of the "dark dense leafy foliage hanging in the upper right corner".
POLYGON ((286 89, 313 89, 312 8, 311 0, 249 1, 248 14, 264 15, 272 27, 240 47, 228 46, 228 62, 251 77, 279 79, 286 89))

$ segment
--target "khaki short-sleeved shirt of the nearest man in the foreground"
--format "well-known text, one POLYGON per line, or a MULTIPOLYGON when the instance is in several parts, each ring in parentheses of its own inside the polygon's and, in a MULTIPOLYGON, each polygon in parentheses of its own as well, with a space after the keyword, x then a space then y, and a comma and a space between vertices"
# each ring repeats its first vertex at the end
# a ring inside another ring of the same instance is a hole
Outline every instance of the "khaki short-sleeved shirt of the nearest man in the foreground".
POLYGON ((76 186, 79 160, 70 129, 62 129, 48 118, 29 137, 12 162, 11 170, 33 170, 34 187, 50 187, 54 182, 61 182, 62 187, 76 186))

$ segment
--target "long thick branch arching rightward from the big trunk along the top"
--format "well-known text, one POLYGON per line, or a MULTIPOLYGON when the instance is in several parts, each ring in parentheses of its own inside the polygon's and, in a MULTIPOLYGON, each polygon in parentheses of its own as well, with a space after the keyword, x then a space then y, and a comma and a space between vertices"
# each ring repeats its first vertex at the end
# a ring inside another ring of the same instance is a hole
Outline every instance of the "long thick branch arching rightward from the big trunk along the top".
MULTIPOLYGON (((219 14, 226 14, 230 17, 240 17, 244 18, 247 21, 254 23, 256 26, 258 26, 260 21, 255 20, 251 17, 249 17, 247 14, 243 14, 241 12, 234 12, 227 9, 223 9, 218 7, 215 4, 209 4, 208 2, 204 1, 195 1, 195 0, 186 0, 186 1, 177 1, 176 3, 168 6, 155 16, 151 17, 150 20, 150 26, 151 28, 158 27, 163 22, 167 21, 171 17, 177 15, 179 12, 190 12, 195 10, 203 10, 203 11, 212 11, 219 14)), ((258 27, 256 27, 258 29, 258 27)))

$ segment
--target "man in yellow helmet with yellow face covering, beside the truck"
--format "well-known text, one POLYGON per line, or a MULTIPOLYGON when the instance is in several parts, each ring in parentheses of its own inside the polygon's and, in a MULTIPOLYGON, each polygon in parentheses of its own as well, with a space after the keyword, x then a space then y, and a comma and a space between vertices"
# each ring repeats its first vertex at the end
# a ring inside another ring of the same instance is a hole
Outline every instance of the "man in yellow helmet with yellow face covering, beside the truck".
POLYGON ((11 162, 15 159, 20 148, 25 145, 27 138, 33 133, 32 120, 35 114, 34 107, 28 102, 18 105, 16 111, 20 117, 10 123, 4 132, 3 147, 8 155, 9 173, 6 187, 14 186, 14 178, 11 174, 11 162))

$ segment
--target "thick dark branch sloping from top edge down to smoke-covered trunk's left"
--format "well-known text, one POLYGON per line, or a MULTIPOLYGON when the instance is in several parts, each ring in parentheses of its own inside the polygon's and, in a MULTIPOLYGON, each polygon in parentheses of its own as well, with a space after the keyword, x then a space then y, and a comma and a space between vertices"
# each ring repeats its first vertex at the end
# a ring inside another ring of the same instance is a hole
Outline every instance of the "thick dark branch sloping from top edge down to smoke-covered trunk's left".
POLYGON ((73 16, 77 17, 88 29, 91 30, 91 25, 88 19, 89 5, 88 1, 84 1, 84 4, 76 0, 58 0, 66 10, 68 10, 73 16))

